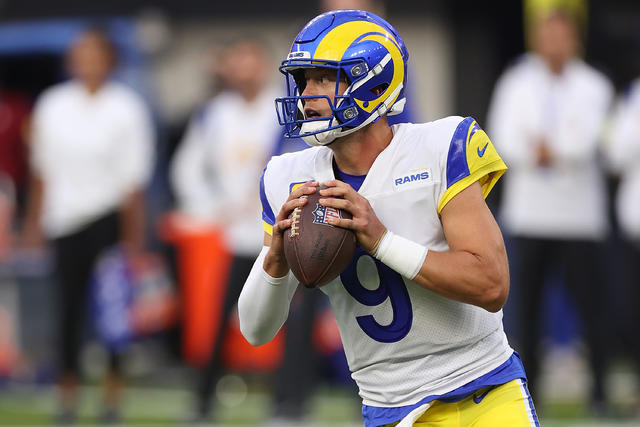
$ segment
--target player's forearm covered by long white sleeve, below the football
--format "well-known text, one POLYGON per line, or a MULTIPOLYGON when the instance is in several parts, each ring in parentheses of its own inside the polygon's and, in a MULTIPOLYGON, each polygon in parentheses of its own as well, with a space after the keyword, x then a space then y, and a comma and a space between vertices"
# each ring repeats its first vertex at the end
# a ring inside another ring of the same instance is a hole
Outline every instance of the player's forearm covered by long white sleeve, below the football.
POLYGON ((280 330, 289 314, 289 303, 296 283, 269 277, 263 269, 268 251, 263 248, 251 269, 238 300, 240 331, 252 345, 269 342, 280 330))

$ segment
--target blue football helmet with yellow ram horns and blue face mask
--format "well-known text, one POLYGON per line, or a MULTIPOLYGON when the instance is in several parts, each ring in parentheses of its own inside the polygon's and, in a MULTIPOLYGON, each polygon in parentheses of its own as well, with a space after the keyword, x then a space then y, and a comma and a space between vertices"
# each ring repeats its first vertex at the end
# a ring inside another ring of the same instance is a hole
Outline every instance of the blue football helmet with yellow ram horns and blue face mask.
POLYGON ((404 109, 409 53, 396 30, 384 19, 362 10, 336 10, 311 20, 296 37, 280 72, 287 96, 276 99, 285 136, 302 137, 309 145, 326 145, 404 109), (305 68, 336 72, 334 102, 327 96, 302 96, 305 68), (347 81, 338 93, 340 80, 347 81), (305 99, 325 98, 328 117, 307 118, 305 99))

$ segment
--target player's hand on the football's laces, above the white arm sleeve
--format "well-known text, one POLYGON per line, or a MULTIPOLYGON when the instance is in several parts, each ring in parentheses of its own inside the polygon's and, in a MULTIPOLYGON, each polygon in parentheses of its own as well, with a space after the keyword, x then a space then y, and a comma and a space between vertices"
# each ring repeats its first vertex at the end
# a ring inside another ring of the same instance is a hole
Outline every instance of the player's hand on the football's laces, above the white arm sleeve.
POLYGON ((316 192, 317 182, 306 182, 304 185, 296 188, 289 194, 287 201, 284 202, 280 212, 276 216, 273 225, 273 234, 271 235, 271 244, 269 252, 264 260, 264 271, 272 277, 282 277, 289 272, 289 264, 284 256, 284 232, 291 227, 292 220, 289 215, 297 207, 304 206, 307 203, 306 197, 316 192))

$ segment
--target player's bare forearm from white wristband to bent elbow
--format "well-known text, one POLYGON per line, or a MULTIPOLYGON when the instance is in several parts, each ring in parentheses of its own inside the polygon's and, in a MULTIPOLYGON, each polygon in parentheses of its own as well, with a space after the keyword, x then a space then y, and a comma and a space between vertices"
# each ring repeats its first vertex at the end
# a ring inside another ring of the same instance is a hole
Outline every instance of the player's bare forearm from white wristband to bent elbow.
POLYGON ((467 251, 429 251, 413 280, 437 294, 491 312, 502 308, 509 293, 509 268, 506 254, 500 250, 484 256, 467 251))

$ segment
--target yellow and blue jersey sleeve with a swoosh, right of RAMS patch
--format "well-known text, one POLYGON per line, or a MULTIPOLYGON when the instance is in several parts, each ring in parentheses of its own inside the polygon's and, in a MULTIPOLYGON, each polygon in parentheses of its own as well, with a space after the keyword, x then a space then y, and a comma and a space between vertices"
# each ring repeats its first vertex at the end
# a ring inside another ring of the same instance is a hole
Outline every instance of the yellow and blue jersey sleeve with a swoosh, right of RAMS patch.
POLYGON ((444 179, 438 213, 453 197, 478 181, 486 198, 507 166, 487 134, 478 123, 467 117, 458 124, 443 153, 444 179))

